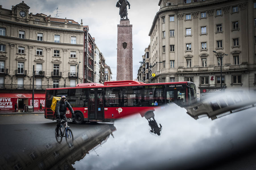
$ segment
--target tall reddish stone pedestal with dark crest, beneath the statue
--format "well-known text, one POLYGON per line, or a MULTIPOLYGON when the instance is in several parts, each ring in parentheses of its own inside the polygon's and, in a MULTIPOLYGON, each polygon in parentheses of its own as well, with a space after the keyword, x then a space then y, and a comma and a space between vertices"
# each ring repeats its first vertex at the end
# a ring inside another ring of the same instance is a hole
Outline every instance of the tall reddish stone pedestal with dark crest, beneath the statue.
POLYGON ((133 80, 133 25, 121 19, 117 25, 117 81, 133 80))

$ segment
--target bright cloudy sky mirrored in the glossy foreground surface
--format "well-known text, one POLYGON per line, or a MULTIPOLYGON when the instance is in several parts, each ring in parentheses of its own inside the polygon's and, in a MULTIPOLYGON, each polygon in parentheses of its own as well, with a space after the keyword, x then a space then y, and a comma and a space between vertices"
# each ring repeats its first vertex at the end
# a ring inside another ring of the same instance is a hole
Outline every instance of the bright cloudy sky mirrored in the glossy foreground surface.
POLYGON ((162 125, 152 135, 147 119, 134 115, 115 122, 115 138, 75 162, 76 169, 192 168, 231 156, 255 141, 255 107, 213 121, 195 120, 175 104, 154 112, 162 125), (191 164, 192 163, 192 164, 191 164))

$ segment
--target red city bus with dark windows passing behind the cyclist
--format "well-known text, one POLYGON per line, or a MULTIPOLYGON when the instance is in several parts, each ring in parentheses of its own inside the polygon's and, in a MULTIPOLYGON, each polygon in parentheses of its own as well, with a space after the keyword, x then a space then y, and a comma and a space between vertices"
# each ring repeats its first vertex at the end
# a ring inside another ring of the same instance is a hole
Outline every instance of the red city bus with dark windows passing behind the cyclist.
MULTIPOLYGON (((83 121, 112 122, 139 113, 144 116, 156 108, 175 103, 187 106, 196 102, 193 82, 140 83, 137 81, 109 81, 104 84, 81 83, 76 87, 46 89, 45 118, 54 119, 50 109, 53 96, 67 97, 75 114, 75 123, 83 121)), ((66 112, 67 118, 72 114, 66 112)))

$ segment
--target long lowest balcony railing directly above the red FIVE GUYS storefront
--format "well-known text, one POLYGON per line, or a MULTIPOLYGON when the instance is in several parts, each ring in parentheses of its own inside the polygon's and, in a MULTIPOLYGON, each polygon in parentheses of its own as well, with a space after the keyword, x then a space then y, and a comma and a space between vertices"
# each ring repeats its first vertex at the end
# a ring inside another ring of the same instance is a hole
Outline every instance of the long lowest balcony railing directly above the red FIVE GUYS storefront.
MULTIPOLYGON (((48 88, 62 88, 62 87, 74 87, 74 86, 64 86, 64 85, 34 85, 35 90, 45 90, 48 88)), ((32 90, 33 85, 22 85, 22 84, 0 84, 0 89, 24 89, 32 90)))

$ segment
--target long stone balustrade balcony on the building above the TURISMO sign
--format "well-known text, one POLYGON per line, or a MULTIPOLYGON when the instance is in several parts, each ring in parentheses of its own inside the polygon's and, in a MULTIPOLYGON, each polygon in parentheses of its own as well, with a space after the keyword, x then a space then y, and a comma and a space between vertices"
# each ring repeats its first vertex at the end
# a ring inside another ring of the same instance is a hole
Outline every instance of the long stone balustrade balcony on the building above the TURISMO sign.
MULTIPOLYGON (((222 71, 234 71, 234 70, 247 70, 247 64, 233 64, 222 66, 222 71)), ((220 66, 208 66, 208 67, 188 67, 178 68, 178 73, 181 72, 219 72, 220 66)))

